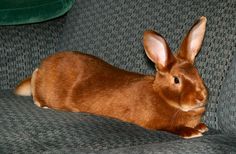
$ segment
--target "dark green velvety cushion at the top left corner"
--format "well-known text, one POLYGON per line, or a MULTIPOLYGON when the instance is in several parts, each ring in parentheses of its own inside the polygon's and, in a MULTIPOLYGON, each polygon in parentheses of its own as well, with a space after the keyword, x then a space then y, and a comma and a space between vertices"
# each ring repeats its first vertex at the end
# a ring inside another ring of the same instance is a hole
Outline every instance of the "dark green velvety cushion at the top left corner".
POLYGON ((0 0, 0 25, 35 23, 65 14, 75 0, 0 0))

